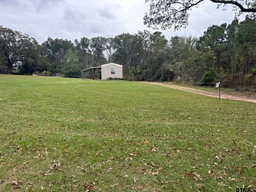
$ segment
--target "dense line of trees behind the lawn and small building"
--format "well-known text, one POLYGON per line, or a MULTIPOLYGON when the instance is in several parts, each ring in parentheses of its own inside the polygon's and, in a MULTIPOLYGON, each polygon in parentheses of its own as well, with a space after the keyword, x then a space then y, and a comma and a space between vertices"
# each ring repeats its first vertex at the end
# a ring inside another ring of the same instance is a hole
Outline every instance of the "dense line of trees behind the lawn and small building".
POLYGON ((47 38, 0 26, 0 68, 19 74, 81 77, 81 70, 116 62, 134 81, 217 82, 256 87, 256 20, 213 25, 199 37, 148 30, 115 37, 47 38))

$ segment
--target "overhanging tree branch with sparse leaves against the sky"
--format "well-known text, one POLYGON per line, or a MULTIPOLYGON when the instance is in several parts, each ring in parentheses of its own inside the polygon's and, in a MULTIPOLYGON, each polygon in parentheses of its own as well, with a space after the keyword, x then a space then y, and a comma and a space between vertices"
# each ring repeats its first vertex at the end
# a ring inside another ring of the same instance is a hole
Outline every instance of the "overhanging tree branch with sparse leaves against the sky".
MULTIPOLYGON (((205 0, 146 0, 149 3, 149 13, 145 13, 144 23, 148 27, 158 29, 185 28, 188 25, 189 11, 205 0)), ((246 12, 249 17, 256 18, 255 0, 210 0, 213 3, 222 5, 233 5, 237 7, 236 16, 246 12)), ((219 6, 218 5, 218 6, 219 6)))

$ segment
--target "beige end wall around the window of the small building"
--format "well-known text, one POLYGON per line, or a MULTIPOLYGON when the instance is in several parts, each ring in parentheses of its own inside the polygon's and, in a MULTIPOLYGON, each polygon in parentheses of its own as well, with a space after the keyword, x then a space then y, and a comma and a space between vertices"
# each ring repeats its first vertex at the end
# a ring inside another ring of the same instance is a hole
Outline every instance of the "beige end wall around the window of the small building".
POLYGON ((110 64, 107 66, 101 66, 101 79, 112 78, 123 78, 123 66, 117 66, 114 64, 110 64), (115 69, 115 74, 111 74, 111 68, 115 69))

